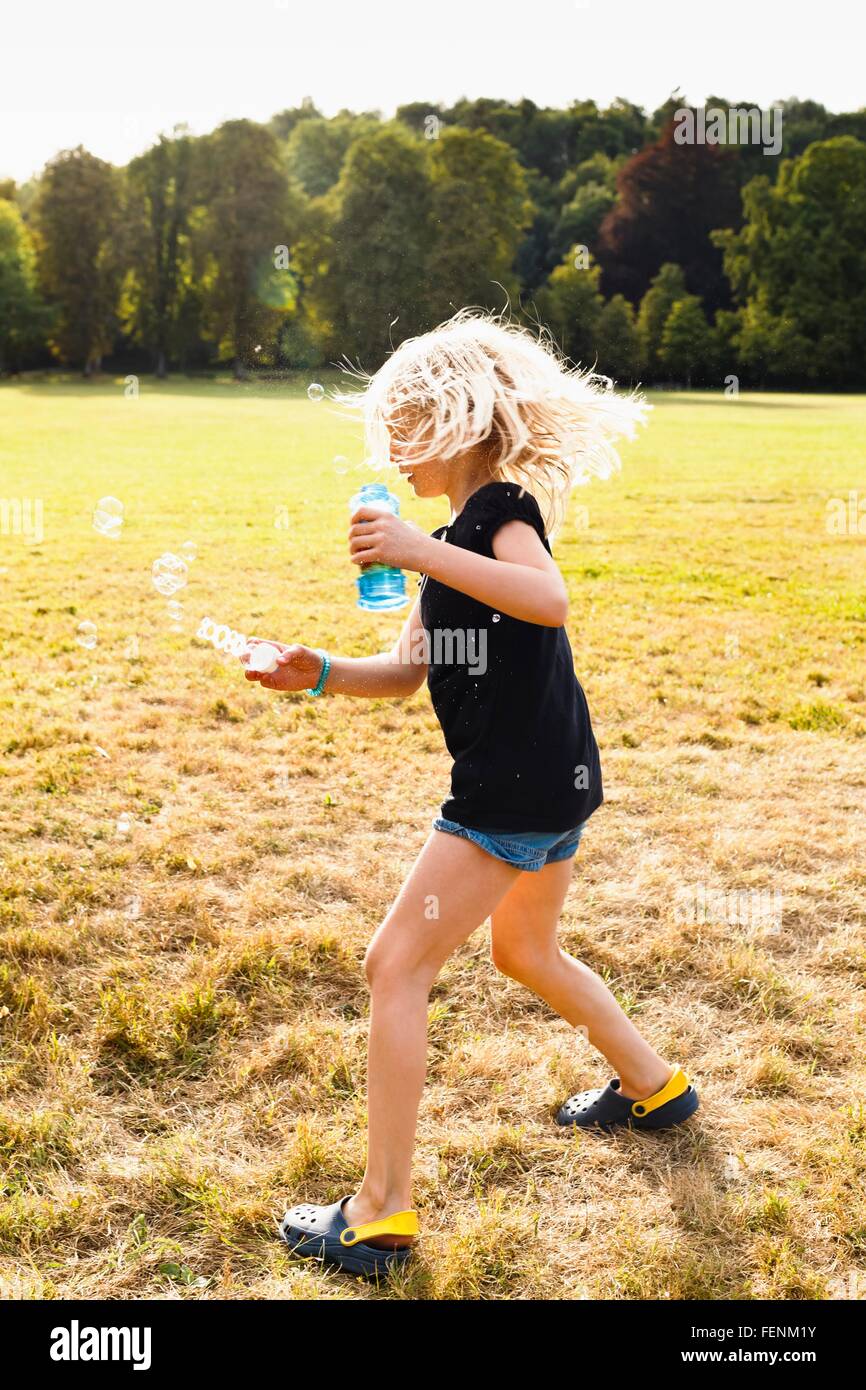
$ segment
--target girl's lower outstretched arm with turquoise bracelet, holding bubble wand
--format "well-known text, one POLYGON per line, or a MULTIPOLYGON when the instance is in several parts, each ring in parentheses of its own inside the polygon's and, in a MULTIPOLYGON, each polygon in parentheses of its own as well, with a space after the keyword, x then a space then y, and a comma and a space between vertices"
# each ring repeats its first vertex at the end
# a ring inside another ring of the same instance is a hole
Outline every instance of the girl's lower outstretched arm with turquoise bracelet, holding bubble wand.
MULTIPOLYGON (((250 646, 261 641, 252 637, 250 646)), ((270 638, 268 638, 270 641, 270 638)), ((279 649, 279 664, 270 676, 246 671, 247 681, 259 681, 268 691, 313 689, 321 676, 322 660, 311 646, 286 646, 271 642, 279 649)), ((370 699, 400 699, 411 695, 427 680, 427 644, 418 600, 403 624, 403 631, 389 652, 378 656, 332 656, 331 670, 325 681, 328 695, 366 695, 370 699)), ((249 656, 240 657, 246 666, 249 656)))

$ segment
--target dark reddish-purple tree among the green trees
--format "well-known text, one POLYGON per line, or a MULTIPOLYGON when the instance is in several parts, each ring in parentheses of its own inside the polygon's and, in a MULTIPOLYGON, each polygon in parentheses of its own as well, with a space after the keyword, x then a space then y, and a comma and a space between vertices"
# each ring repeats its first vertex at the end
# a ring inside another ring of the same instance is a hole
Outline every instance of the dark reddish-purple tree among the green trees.
POLYGON ((676 261, 708 310, 727 307, 730 286, 709 234, 740 227, 737 153, 677 145, 671 121, 655 145, 623 165, 617 188, 619 202, 594 247, 605 295, 637 303, 664 261, 676 261))

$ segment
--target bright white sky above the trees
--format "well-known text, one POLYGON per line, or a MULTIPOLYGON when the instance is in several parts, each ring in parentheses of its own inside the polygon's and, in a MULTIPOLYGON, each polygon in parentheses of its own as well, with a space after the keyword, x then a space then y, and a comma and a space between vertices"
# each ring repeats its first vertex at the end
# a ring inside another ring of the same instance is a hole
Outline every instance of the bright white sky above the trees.
POLYGON ((856 0, 38 0, 1 22, 0 177, 18 181, 60 149, 125 164, 177 122, 304 96, 327 115, 459 96, 653 110, 674 89, 866 103, 856 0))

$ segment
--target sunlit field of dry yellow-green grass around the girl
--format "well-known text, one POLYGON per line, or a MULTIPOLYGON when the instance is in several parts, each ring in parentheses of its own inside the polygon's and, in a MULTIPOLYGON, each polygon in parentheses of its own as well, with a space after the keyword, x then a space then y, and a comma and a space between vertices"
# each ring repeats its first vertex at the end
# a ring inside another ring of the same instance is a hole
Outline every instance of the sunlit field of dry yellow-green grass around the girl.
POLYGON ((478 930, 431 998, 423 1244, 377 1291, 274 1218, 360 1177, 361 958, 448 758, 424 689, 275 698, 195 638, 389 642, 346 559, 357 428, 303 385, 0 388, 0 492, 44 527, 0 534, 1 1295, 866 1295, 866 537, 826 525, 866 399, 653 399, 555 542, 607 796, 563 941, 703 1108, 557 1130, 606 1065, 478 930), (188 539, 174 632, 150 564, 188 539), (692 920, 698 890, 778 912, 692 920))

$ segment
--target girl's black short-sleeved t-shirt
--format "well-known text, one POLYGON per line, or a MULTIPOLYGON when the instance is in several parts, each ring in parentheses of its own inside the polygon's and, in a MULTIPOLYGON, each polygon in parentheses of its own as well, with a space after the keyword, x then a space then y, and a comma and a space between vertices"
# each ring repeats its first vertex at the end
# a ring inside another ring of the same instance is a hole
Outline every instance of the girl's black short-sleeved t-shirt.
MULTIPOLYGON (((488 482, 432 535, 493 556, 506 521, 544 541, 538 503, 514 482, 488 482)), ((602 770, 564 627, 524 623, 421 578, 427 682, 455 764, 442 816, 474 830, 564 831, 601 806, 602 770)))

